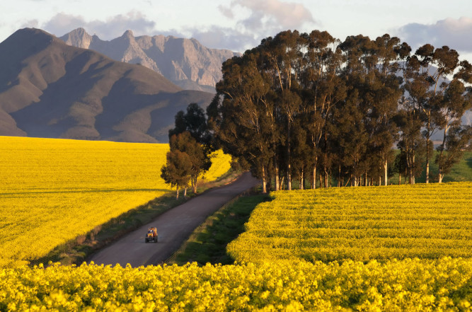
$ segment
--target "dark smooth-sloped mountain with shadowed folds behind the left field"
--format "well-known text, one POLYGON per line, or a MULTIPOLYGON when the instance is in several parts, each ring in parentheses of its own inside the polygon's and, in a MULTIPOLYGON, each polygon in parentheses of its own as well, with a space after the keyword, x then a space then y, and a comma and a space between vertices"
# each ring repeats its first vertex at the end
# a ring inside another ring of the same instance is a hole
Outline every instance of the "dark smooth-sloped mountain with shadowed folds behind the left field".
POLYGON ((178 110, 205 108, 213 96, 43 30, 17 30, 0 43, 0 135, 166 142, 178 110))

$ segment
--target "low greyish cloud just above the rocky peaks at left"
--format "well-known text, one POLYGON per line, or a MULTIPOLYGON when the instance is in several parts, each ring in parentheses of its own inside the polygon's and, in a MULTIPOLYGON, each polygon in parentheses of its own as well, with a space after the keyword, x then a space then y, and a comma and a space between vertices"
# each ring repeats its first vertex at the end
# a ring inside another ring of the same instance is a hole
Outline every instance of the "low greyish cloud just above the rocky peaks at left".
POLYGON ((119 37, 125 30, 133 30, 138 35, 152 33, 155 25, 154 21, 149 21, 142 13, 130 11, 126 14, 111 16, 106 18, 105 21, 86 21, 82 16, 58 13, 42 25, 42 28, 60 36, 82 27, 91 34, 98 35, 103 40, 110 40, 119 37))

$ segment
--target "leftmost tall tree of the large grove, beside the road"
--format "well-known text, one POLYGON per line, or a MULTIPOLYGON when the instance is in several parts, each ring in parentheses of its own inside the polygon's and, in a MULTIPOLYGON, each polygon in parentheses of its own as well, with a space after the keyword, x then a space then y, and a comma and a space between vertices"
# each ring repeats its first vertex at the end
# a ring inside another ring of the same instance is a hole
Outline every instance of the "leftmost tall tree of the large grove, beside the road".
POLYGON ((270 85, 260 71, 260 50, 224 62, 218 97, 207 112, 225 153, 243 158, 262 180, 266 192, 268 166, 277 131, 271 113, 270 85))

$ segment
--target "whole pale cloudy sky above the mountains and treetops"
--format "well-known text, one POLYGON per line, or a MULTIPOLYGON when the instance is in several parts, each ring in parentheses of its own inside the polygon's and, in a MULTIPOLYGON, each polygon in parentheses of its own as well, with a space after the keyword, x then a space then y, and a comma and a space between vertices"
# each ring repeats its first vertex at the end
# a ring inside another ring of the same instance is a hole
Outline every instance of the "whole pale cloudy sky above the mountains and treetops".
POLYGON ((469 0, 0 0, 0 42, 25 27, 58 37, 82 27, 102 40, 125 30, 194 37, 236 52, 282 30, 326 30, 340 40, 388 33, 414 50, 448 45, 472 62, 469 0))

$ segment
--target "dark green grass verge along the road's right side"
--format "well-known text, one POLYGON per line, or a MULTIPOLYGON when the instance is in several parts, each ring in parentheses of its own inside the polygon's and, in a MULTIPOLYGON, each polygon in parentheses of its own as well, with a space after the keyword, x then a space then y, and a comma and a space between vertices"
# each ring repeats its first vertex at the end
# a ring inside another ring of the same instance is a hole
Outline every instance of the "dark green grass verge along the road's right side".
POLYGON ((244 224, 260 202, 270 200, 267 194, 236 197, 193 231, 188 240, 167 260, 169 265, 197 262, 205 265, 230 265, 234 259, 226 254, 226 245, 244 231, 244 224))

